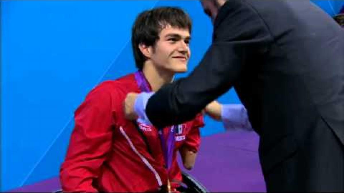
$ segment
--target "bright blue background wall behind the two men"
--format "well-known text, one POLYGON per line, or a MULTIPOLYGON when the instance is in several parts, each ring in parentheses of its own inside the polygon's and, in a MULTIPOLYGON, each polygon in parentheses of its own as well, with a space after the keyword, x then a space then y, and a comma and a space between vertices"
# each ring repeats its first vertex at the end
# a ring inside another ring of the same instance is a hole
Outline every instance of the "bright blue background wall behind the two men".
MULTIPOLYGON (((330 15, 344 4, 315 3, 330 15)), ((198 1, 1 2, 0 191, 58 175, 74 110, 99 82, 136 70, 131 25, 139 12, 165 5, 193 19, 193 69, 212 34, 198 1)), ((219 101, 240 102, 233 90, 219 101)), ((221 123, 205 121, 203 136, 224 131, 221 123)))

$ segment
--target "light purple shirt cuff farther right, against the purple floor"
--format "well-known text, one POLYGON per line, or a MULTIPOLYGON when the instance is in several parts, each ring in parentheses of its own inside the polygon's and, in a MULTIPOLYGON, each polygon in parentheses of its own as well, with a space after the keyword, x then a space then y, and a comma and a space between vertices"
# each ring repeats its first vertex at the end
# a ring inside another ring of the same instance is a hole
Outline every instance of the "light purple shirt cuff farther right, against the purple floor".
POLYGON ((244 105, 223 104, 221 119, 226 130, 253 130, 244 105))

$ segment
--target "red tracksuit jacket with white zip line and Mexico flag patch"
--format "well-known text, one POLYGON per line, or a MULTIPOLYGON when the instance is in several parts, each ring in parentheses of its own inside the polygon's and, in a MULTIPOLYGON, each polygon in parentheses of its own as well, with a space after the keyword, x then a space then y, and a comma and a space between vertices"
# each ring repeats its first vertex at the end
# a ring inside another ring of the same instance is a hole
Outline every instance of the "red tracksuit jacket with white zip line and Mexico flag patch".
MULTIPOLYGON (((124 117, 122 103, 129 92, 141 92, 133 74, 101 83, 75 111, 75 128, 60 170, 63 191, 144 192, 166 184, 158 130, 140 124, 150 154, 135 125, 124 117)), ((198 128, 203 126, 201 115, 179 126, 170 179, 182 180, 177 151, 182 146, 197 151, 198 128)), ((168 130, 164 129, 165 136, 168 130)))

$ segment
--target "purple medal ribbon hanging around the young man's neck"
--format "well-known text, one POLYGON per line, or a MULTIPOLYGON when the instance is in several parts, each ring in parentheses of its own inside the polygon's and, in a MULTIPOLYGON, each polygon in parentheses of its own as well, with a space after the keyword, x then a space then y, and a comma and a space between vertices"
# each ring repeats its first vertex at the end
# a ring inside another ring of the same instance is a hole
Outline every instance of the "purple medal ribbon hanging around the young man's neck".
MULTIPOLYGON (((151 92, 149 89, 149 84, 146 80, 146 77, 144 77, 144 74, 142 71, 137 71, 135 72, 135 79, 137 81, 137 84, 142 92, 151 92)), ((164 153, 164 159, 165 159, 165 164, 166 168, 169 170, 172 165, 172 157, 173 157, 173 150, 174 150, 174 143, 175 143, 175 138, 174 134, 176 132, 177 126, 174 125, 170 128, 168 136, 165 138, 163 135, 163 129, 159 129, 159 137, 161 141, 161 147, 162 151, 164 153)))

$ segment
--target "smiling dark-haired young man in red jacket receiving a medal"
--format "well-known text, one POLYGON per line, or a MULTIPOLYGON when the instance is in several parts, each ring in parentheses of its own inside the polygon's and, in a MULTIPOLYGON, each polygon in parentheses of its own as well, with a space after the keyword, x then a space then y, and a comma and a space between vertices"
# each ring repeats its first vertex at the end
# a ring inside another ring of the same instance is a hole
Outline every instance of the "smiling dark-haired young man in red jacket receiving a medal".
POLYGON ((60 171, 63 191, 145 192, 167 184, 176 191, 182 180, 177 151, 184 167, 191 169, 203 117, 159 134, 140 120, 126 120, 122 103, 127 93, 156 91, 175 73, 187 70, 190 33, 191 20, 178 8, 157 8, 138 16, 132 47, 139 71, 99 84, 75 111, 75 128, 60 171))

